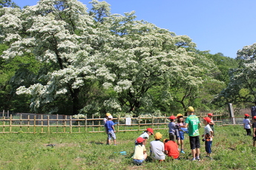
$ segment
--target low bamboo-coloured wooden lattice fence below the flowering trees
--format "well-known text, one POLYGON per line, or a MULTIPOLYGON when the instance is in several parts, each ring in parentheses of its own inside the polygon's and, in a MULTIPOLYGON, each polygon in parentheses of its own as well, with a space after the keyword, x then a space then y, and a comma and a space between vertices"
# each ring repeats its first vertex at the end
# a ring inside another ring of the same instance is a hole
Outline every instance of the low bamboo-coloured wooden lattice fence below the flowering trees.
MULTIPOLYGON (((200 114, 198 116, 200 121, 206 115, 200 114)), ((186 117, 184 117, 186 118, 186 117)), ((217 126, 222 126, 221 115, 214 115, 214 123, 217 126)), ((169 117, 151 117, 151 118, 114 118, 113 120, 116 125, 115 129, 117 132, 125 131, 143 131, 148 127, 153 129, 168 129, 169 117), (127 120, 131 121, 128 124, 127 120)), ((85 133, 85 132, 105 132, 103 124, 103 118, 92 116, 82 119, 74 119, 71 116, 65 116, 65 118, 50 118, 50 115, 37 116, 27 115, 27 118, 13 117, 10 115, 9 118, 0 118, 0 133, 85 133)))

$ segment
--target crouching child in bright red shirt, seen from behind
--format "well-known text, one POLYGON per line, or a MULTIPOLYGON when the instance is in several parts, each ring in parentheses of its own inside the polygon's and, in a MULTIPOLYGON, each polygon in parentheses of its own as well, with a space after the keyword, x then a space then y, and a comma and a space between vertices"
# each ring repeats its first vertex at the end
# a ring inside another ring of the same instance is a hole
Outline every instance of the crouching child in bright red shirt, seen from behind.
POLYGON ((172 157, 173 159, 177 159, 180 157, 180 153, 178 150, 179 146, 177 145, 177 143, 168 139, 163 140, 163 142, 165 144, 165 154, 168 155, 168 157, 172 157))

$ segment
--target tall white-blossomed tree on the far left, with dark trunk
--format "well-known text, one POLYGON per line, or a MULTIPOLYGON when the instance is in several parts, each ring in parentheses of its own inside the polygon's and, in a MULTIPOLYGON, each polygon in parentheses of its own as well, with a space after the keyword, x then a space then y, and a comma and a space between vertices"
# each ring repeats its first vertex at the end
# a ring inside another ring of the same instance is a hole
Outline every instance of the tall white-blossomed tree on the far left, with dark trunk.
POLYGON ((95 49, 102 41, 87 10, 76 0, 42 0, 22 10, 1 9, 1 39, 10 45, 2 57, 33 53, 43 64, 38 83, 17 90, 32 96, 34 112, 56 112, 56 101, 70 104, 71 115, 81 109, 79 92, 95 79, 95 49))

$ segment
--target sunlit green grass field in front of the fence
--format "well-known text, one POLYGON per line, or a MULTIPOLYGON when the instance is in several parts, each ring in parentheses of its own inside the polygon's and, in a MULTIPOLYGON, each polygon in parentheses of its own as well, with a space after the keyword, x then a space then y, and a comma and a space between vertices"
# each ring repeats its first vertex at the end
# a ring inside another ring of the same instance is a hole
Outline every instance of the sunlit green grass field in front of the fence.
MULTIPOLYGON (((167 157, 164 163, 148 162, 142 166, 131 163, 134 140, 141 132, 117 132, 117 146, 105 145, 105 133, 1 134, 0 169, 256 169, 256 148, 252 147, 252 137, 246 136, 242 126, 214 129, 211 154, 214 160, 204 157, 201 142, 202 160, 192 162, 186 135, 186 154, 180 155, 181 160, 167 157), (127 154, 120 154, 122 151, 127 154)), ((167 130, 155 132, 168 137, 167 130)), ((151 140, 154 137, 151 136, 151 140)), ((149 154, 149 142, 146 148, 149 154)))

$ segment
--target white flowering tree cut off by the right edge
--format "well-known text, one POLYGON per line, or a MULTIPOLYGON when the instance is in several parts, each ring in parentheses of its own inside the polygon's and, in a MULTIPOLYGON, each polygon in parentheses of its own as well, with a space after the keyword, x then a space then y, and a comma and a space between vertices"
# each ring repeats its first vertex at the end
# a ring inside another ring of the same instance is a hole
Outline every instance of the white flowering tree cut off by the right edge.
POLYGON ((240 63, 237 69, 232 69, 230 83, 217 96, 220 103, 246 103, 256 99, 256 44, 243 47, 237 51, 240 63))

